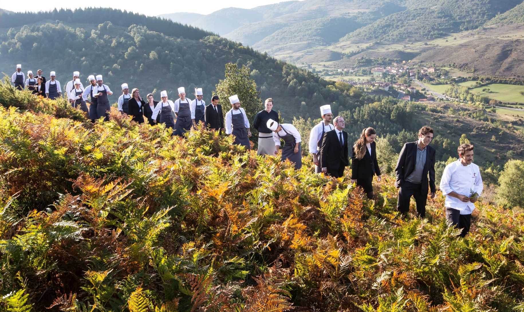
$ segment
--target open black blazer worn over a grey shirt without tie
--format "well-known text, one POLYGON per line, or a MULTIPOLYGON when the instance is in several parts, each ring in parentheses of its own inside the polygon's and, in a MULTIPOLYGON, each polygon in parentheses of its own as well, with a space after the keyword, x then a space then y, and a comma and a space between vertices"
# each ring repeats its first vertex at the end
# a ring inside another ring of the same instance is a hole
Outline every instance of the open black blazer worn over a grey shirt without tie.
MULTIPOLYGON (((395 173, 397 175, 397 180, 395 181, 395 186, 397 188, 402 186, 404 180, 413 172, 415 169, 415 161, 417 159, 417 146, 418 142, 410 142, 404 144, 402 151, 397 161, 397 167, 395 168, 395 173)), ((436 191, 435 188, 435 149, 431 146, 426 146, 426 162, 424 165, 424 170, 422 170, 422 192, 427 193, 428 188, 431 189, 431 192, 436 191), (429 172, 429 181, 428 181, 428 172, 429 172), (429 185, 428 185, 429 184, 429 185)))

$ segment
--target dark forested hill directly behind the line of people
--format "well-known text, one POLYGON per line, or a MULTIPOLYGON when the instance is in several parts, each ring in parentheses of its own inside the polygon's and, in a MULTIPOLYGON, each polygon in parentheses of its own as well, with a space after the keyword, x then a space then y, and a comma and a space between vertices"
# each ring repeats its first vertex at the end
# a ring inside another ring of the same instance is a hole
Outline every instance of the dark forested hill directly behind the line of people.
POLYGON ((88 75, 102 74, 117 94, 124 82, 144 95, 154 91, 157 99, 163 89, 173 98, 180 86, 202 87, 209 101, 224 77, 224 65, 233 62, 251 68, 261 98, 274 97, 288 120, 298 111, 316 118, 325 103, 336 102, 341 109, 363 103, 359 96, 327 88, 329 83, 318 76, 267 54, 155 17, 113 9, 61 10, 9 15, 0 26, 0 71, 9 76, 21 63, 24 72, 41 68, 48 76, 56 71, 63 85, 73 71, 80 71, 84 84, 88 75))

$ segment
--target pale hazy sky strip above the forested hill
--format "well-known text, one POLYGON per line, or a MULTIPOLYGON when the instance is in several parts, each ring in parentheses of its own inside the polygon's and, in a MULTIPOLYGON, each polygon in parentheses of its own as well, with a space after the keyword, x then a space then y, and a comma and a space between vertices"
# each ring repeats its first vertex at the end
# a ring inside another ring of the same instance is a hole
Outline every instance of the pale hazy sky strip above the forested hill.
POLYGON ((165 0, 146 0, 146 1, 122 1, 122 0, 105 0, 104 2, 79 2, 79 1, 34 1, 31 5, 24 2, 0 0, 0 8, 15 12, 52 10, 56 8, 84 8, 84 7, 111 7, 141 13, 145 15, 160 15, 177 12, 193 12, 200 14, 210 14, 216 10, 226 7, 254 8, 256 6, 279 3, 283 0, 197 0, 197 1, 176 1, 167 2, 165 0))

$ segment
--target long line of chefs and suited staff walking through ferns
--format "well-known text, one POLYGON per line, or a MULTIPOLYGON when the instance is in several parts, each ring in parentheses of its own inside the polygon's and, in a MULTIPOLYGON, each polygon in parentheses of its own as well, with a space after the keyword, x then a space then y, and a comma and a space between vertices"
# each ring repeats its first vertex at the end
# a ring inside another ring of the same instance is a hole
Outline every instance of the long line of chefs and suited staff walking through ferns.
MULTIPOLYGON (((17 64, 16 67, 12 76, 16 88, 21 90, 25 87, 35 95, 50 99, 61 97, 62 90, 55 72, 50 73, 48 81, 42 76, 41 70, 37 71, 36 77, 28 71, 29 78, 25 79, 21 65, 17 64)), ((100 118, 107 121, 110 110, 108 96, 113 92, 104 84, 102 75, 90 75, 90 85, 86 88, 79 77, 79 72, 73 72, 72 80, 65 87, 71 105, 87 113, 93 122, 100 118), (89 103, 89 108, 86 103, 89 103)), ((117 101, 118 110, 132 116, 138 123, 144 123, 146 117, 150 125, 163 123, 166 128, 173 130, 173 135, 182 136, 202 122, 210 130, 234 135, 234 144, 250 148, 250 123, 237 95, 229 97, 231 109, 225 114, 224 122, 219 97, 213 96, 211 103, 206 106, 202 88, 195 88, 194 100, 188 99, 185 88, 180 87, 179 98, 175 101, 169 100, 167 91, 163 90, 160 93, 160 101, 155 101, 154 96, 148 94, 146 102, 140 96, 138 88, 129 93, 126 83, 121 87, 122 95, 117 101)), ((279 122, 279 115, 272 109, 273 105, 271 98, 266 99, 264 109, 256 114, 253 121, 253 126, 258 132, 257 155, 281 153, 282 161, 289 159, 296 169, 300 169, 300 133, 292 124, 279 122), (283 147, 281 141, 284 141, 283 147)), ((321 106, 320 114, 322 121, 311 129, 309 136, 309 152, 313 156, 315 172, 323 172, 335 178, 343 177, 345 168, 350 166, 344 118, 337 116, 333 119, 330 105, 321 106)), ((433 139, 433 129, 423 126, 418 136, 416 142, 404 144, 395 168, 395 186, 399 188, 397 210, 402 216, 407 216, 410 199, 414 197, 417 216, 425 217, 428 191, 431 198, 435 197, 435 149, 429 145, 433 139)), ((375 129, 365 128, 354 142, 351 156, 351 182, 361 187, 369 199, 374 197, 374 176, 377 176, 377 181, 381 180, 375 138, 375 129)), ((462 144, 457 152, 459 160, 444 169, 440 189, 446 196, 446 218, 451 224, 462 229, 461 236, 464 237, 470 230, 471 213, 475 209, 474 203, 482 193, 483 183, 478 166, 472 163, 473 145, 462 144)))

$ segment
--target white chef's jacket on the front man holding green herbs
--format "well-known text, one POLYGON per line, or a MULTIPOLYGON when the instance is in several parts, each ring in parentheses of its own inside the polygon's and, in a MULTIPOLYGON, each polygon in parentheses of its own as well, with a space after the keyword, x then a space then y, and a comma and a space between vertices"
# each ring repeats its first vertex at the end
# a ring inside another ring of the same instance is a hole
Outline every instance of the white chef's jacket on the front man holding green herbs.
POLYGON ((471 214, 475 209, 475 204, 472 202, 465 203, 447 194, 453 191, 457 194, 469 196, 470 190, 473 190, 473 192, 481 195, 483 189, 484 184, 478 166, 473 163, 464 166, 460 160, 447 165, 440 180, 440 190, 446 195, 445 206, 460 210, 460 214, 471 214))

